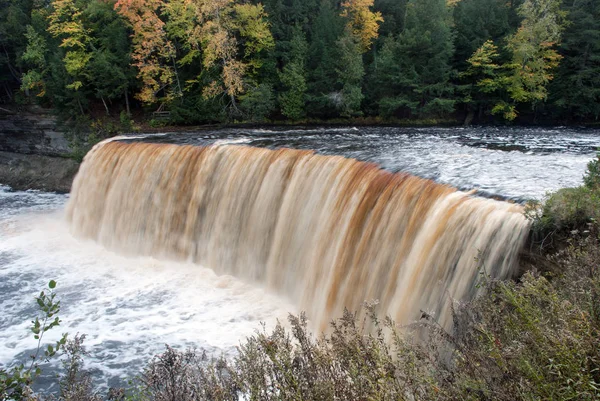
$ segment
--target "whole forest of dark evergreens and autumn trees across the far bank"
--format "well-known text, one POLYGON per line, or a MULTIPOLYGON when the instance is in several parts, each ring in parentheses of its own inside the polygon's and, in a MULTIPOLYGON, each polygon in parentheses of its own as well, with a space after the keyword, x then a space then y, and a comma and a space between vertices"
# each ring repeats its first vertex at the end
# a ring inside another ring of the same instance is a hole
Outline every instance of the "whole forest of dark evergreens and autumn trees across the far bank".
POLYGON ((597 0, 0 0, 4 103, 174 124, 595 122, 597 0))

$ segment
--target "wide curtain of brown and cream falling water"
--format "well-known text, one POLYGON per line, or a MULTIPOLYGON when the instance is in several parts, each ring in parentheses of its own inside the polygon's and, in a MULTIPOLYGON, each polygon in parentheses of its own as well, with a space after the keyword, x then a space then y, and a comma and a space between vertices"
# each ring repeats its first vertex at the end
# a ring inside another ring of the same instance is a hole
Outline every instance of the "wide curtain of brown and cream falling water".
POLYGON ((117 141, 86 156, 67 218, 109 249, 265 285, 321 329, 374 299, 448 325, 482 268, 511 274, 529 226, 519 205, 340 156, 117 141))

